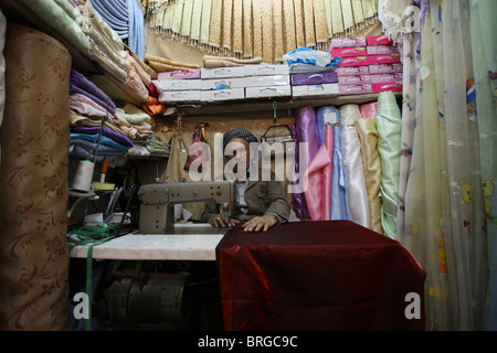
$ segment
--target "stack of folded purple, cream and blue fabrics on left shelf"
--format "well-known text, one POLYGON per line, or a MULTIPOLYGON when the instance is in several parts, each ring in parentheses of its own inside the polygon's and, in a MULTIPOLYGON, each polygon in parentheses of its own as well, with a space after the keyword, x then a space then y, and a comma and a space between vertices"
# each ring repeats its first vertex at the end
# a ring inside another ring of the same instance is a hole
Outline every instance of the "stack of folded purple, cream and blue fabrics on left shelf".
POLYGON ((118 126, 114 101, 74 69, 71 71, 68 103, 72 125, 70 156, 93 161, 96 154, 96 161, 104 158, 113 160, 133 147, 118 126))

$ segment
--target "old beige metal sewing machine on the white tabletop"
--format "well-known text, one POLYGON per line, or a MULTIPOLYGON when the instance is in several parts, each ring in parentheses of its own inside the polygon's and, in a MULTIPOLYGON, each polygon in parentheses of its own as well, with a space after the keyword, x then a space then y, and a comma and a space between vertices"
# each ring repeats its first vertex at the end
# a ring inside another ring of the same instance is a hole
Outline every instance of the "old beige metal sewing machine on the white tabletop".
MULTIPOLYGON (((222 213, 230 216, 235 206, 235 185, 233 181, 152 183, 140 186, 138 197, 141 202, 139 233, 188 234, 188 228, 175 227, 175 204, 213 199, 221 204, 222 213)), ((199 233, 199 229, 194 232, 199 233)), ((204 224, 202 232, 212 233, 216 228, 204 224)))

